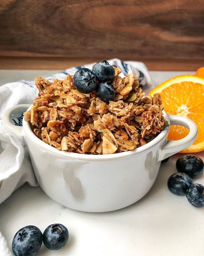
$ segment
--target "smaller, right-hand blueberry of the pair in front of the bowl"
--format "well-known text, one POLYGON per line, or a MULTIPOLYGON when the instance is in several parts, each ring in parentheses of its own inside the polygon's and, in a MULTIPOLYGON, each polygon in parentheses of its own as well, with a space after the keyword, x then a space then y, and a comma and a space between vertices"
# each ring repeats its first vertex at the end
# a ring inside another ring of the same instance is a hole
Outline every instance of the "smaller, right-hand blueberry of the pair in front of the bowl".
POLYGON ((62 224, 52 224, 43 233, 43 243, 50 250, 61 249, 69 239, 69 231, 62 224))

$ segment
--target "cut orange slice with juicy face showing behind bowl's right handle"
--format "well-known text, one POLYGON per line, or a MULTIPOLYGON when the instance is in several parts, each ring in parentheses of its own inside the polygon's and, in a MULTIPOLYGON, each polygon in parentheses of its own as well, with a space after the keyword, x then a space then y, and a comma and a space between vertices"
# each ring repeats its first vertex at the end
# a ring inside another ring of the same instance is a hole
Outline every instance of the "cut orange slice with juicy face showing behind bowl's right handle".
MULTIPOLYGON (((168 114, 185 116, 198 126, 195 142, 181 153, 204 150, 204 78, 192 75, 176 76, 155 87, 149 94, 160 93, 164 110, 168 114)), ((189 130, 181 125, 171 125, 168 140, 180 140, 189 130)))

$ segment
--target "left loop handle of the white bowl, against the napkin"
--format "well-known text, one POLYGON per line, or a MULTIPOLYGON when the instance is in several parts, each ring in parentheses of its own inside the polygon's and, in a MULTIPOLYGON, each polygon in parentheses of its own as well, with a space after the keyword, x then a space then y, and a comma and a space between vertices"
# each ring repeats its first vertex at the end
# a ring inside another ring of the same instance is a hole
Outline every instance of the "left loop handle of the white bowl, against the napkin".
POLYGON ((2 122, 3 122, 4 129, 6 130, 6 132, 15 135, 23 146, 25 146, 25 142, 23 139, 22 126, 12 124, 11 123, 11 115, 17 114, 17 113, 23 113, 30 106, 31 106, 31 104, 19 104, 14 107, 11 107, 6 110, 6 112, 4 113, 3 118, 2 118, 2 122))

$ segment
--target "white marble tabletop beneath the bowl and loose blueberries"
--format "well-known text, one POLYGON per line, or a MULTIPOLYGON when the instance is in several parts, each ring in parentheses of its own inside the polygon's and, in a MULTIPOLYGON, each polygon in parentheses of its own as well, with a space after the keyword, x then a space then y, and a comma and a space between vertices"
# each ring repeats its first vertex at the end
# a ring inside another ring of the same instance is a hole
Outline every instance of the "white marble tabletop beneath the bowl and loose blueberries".
MULTIPOLYGON (((53 71, 0 71, 0 85, 53 71)), ((150 72, 155 84, 184 72, 150 72)), ((188 72, 194 74, 194 72, 188 72)), ((204 160, 204 153, 198 153, 204 160)), ((52 223, 68 229, 68 244, 59 251, 42 245, 38 256, 192 256, 204 252, 204 208, 191 206, 185 196, 171 194, 168 177, 176 172, 179 155, 161 165, 149 193, 122 210, 106 213, 78 212, 55 203, 40 187, 25 184, 0 205, 0 230, 11 247, 19 228, 36 225, 42 231, 52 223)), ((204 184, 204 175, 195 180, 204 184)))

